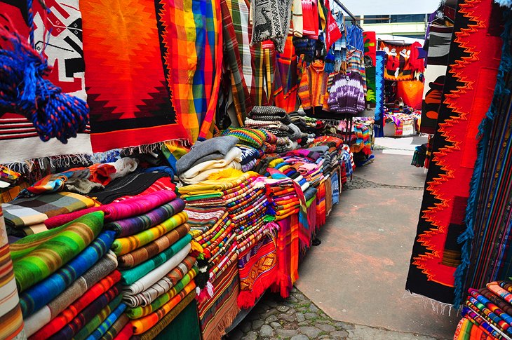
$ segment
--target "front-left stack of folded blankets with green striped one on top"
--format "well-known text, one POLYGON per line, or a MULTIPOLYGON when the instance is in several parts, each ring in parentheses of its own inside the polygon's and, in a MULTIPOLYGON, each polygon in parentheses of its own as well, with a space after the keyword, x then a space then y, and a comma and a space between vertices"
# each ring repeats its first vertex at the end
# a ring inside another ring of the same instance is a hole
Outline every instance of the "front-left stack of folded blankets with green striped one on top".
POLYGON ((116 233, 102 231, 104 212, 90 212, 11 244, 29 339, 99 339, 123 328, 116 233), (114 328, 112 328, 114 327, 114 328))

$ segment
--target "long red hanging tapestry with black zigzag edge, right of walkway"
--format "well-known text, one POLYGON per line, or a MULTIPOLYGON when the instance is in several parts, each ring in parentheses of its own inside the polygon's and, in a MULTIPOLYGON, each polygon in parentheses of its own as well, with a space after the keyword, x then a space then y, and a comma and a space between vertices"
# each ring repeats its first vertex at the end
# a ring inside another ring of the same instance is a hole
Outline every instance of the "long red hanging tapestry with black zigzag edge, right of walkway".
POLYGON ((499 15, 492 0, 459 1, 450 47, 445 101, 433 137, 417 238, 406 289, 451 304, 454 273, 461 263, 458 236, 476 161, 478 124, 490 106, 501 55, 499 15), (469 29, 468 27, 471 27, 469 29))

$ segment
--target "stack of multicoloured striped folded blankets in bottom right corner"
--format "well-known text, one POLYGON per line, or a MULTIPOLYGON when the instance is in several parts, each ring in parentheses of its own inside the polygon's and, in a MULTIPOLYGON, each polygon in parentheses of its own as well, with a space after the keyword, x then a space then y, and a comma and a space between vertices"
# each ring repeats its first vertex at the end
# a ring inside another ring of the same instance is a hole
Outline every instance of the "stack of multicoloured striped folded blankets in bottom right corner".
POLYGON ((455 340, 511 339, 512 282, 496 281, 480 290, 470 289, 462 317, 455 340))

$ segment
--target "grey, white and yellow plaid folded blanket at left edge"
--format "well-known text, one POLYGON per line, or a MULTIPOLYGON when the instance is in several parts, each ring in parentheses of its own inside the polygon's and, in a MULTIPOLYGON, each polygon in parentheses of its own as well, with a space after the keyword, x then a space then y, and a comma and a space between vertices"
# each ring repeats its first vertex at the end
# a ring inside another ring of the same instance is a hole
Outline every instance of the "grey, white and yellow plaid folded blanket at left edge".
POLYGON ((78 193, 58 192, 32 198, 18 198, 2 205, 2 209, 6 225, 21 228, 43 223, 50 217, 90 208, 94 204, 94 200, 78 193))

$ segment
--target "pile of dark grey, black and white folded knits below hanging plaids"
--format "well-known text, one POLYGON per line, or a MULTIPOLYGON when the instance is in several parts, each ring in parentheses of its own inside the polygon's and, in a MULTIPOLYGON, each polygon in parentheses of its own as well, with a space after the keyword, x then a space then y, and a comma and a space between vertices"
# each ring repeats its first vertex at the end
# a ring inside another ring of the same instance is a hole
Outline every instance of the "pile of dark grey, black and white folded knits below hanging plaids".
POLYGON ((248 118, 245 118, 245 127, 261 129, 272 134, 267 142, 276 147, 270 152, 295 150, 303 137, 302 131, 292 123, 286 111, 278 107, 253 107, 248 118))

